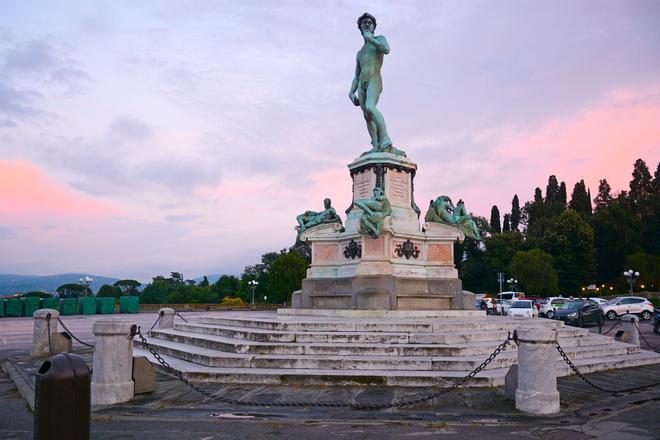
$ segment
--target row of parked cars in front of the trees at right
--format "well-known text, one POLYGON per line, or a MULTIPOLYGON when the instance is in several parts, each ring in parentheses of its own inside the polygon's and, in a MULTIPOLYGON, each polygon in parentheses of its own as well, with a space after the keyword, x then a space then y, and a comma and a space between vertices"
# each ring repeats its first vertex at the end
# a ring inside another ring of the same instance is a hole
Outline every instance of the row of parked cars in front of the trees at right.
POLYGON ((488 314, 503 314, 521 317, 545 317, 560 319, 567 324, 583 326, 594 323, 601 326, 605 318, 613 320, 625 314, 636 314, 643 320, 654 316, 653 304, 646 298, 636 296, 617 297, 610 301, 602 298, 573 299, 564 297, 524 298, 514 293, 509 299, 484 298, 481 308, 488 314))

